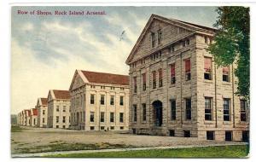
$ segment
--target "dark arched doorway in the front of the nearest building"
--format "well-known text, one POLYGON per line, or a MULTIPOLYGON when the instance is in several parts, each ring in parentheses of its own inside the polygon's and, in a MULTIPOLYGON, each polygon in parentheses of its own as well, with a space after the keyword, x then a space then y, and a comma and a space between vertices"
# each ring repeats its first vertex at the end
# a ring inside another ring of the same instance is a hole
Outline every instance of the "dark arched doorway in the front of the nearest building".
POLYGON ((154 112, 154 124, 155 126, 161 126, 163 124, 163 104, 157 100, 152 103, 154 112))

